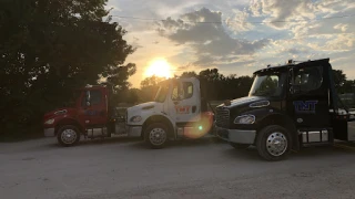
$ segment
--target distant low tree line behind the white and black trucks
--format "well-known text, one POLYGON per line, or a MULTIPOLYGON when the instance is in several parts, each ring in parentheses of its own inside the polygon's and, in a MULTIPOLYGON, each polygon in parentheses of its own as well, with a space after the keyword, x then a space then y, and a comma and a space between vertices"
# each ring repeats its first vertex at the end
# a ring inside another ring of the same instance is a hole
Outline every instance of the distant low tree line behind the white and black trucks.
MULTIPOLYGON (((338 94, 355 93, 354 80, 347 80, 342 70, 333 70, 333 74, 338 94)), ((195 71, 184 72, 181 75, 175 75, 175 77, 197 77, 203 80, 202 87, 207 87, 204 97, 209 101, 224 101, 247 96, 254 80, 252 75, 224 75, 219 72, 219 69, 206 69, 199 73, 195 71)), ((165 80, 165 77, 154 75, 146 77, 141 82, 140 88, 126 90, 123 95, 118 97, 121 102, 133 104, 152 101, 158 90, 158 84, 165 80)))

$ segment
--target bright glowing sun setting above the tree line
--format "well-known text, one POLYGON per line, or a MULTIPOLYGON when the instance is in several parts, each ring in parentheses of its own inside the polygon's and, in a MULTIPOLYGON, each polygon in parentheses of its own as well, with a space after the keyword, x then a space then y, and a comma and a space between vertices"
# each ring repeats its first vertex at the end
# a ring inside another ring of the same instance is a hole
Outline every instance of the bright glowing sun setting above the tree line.
POLYGON ((145 71, 145 76, 171 77, 171 65, 164 59, 154 60, 150 63, 145 71))

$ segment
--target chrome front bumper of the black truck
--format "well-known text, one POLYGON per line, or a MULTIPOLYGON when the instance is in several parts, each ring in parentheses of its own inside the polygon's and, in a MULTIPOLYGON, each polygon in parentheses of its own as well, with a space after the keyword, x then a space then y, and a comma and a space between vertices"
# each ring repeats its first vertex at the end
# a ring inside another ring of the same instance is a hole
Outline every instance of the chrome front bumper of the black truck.
POLYGON ((254 144, 256 130, 227 129, 215 127, 215 135, 223 140, 236 144, 254 144))

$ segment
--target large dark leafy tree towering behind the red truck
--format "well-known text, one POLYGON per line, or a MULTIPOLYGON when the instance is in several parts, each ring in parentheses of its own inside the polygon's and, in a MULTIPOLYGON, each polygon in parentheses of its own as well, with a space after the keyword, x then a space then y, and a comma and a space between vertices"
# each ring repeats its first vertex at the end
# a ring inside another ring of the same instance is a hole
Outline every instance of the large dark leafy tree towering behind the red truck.
POLYGON ((60 106, 74 87, 101 78, 116 88, 130 86, 128 78, 135 65, 124 62, 134 49, 123 40, 126 32, 108 17, 105 3, 0 2, 2 134, 41 134, 43 113, 60 106))

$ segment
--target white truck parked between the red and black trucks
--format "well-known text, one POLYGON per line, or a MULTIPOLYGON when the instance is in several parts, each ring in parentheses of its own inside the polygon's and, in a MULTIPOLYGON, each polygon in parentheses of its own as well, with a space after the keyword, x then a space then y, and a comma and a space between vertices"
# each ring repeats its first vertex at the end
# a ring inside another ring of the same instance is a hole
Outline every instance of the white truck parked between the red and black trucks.
POLYGON ((203 137, 213 126, 206 103, 196 77, 161 82, 153 102, 128 108, 128 136, 141 137, 152 148, 163 148, 169 140, 203 137))

